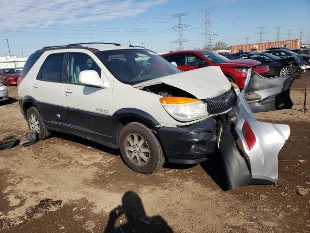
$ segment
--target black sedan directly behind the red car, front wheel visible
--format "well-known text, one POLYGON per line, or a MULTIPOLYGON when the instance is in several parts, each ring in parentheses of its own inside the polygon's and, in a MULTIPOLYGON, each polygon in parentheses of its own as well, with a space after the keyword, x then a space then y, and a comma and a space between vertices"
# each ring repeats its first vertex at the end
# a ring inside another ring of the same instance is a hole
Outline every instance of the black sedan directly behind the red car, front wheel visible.
POLYGON ((265 53, 265 52, 255 52, 246 55, 242 55, 234 58, 236 59, 252 59, 261 62, 263 65, 269 66, 268 76, 278 76, 291 74, 299 67, 297 63, 299 59, 296 56, 289 56, 284 58, 279 58, 275 55, 265 53))

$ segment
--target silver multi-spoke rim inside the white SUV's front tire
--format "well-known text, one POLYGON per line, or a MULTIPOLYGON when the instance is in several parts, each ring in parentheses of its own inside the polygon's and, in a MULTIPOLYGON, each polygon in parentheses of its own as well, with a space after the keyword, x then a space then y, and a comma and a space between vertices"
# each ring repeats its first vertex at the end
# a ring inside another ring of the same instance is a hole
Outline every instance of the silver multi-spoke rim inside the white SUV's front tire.
POLYGON ((126 155, 137 166, 144 166, 150 159, 150 149, 145 139, 138 133, 131 133, 125 140, 126 155))

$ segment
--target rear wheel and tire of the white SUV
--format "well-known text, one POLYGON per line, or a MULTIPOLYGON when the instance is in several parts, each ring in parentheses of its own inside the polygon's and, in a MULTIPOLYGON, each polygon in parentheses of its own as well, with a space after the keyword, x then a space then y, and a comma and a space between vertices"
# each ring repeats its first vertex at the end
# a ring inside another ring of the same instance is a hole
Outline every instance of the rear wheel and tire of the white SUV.
POLYGON ((48 136, 50 136, 50 132, 47 130, 47 127, 44 124, 44 121, 43 121, 39 111, 35 107, 29 108, 27 110, 26 116, 27 116, 27 123, 28 123, 29 130, 36 131, 39 140, 43 140, 43 139, 47 138, 48 136), (37 120, 38 124, 35 126, 31 126, 31 125, 33 125, 32 123, 35 123, 35 122, 33 122, 34 119, 37 120))

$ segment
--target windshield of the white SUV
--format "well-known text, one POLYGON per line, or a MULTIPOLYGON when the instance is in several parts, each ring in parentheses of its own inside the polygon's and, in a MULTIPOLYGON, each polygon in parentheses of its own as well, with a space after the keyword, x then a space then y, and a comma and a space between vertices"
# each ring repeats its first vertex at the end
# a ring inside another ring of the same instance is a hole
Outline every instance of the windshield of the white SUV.
POLYGON ((182 72, 150 50, 106 50, 96 55, 115 78, 131 85, 182 72))

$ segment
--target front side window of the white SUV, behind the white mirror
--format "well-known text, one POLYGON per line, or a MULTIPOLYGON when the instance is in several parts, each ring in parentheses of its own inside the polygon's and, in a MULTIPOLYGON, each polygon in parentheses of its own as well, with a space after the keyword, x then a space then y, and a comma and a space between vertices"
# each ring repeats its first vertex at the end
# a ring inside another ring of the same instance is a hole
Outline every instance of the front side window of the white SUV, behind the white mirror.
POLYGON ((78 80, 80 72, 84 70, 94 70, 101 76, 101 69, 93 59, 83 53, 70 53, 69 55, 69 82, 80 83, 78 80))

